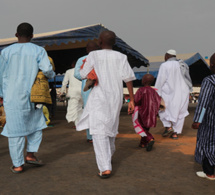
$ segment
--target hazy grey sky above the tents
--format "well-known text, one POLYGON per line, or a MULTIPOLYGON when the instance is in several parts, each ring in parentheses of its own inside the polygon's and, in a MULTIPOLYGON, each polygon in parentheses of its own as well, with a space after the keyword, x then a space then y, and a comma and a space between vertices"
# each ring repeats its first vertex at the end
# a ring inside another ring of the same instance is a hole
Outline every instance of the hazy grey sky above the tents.
POLYGON ((215 52, 215 0, 1 0, 0 39, 102 23, 144 56, 215 52))

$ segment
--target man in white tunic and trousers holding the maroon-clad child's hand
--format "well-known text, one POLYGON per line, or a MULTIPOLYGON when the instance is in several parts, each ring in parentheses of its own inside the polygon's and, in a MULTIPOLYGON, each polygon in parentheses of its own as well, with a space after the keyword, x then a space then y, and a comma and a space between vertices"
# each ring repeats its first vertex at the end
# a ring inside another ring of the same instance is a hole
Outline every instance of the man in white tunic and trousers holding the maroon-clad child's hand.
POLYGON ((99 37, 102 50, 90 52, 86 64, 80 70, 83 79, 93 68, 98 77, 98 85, 93 87, 76 129, 90 129, 101 178, 108 178, 112 171, 111 158, 115 151, 123 102, 123 81, 128 87, 131 100, 128 112, 131 114, 134 111, 132 80, 136 78, 127 56, 112 50, 115 37, 112 31, 102 32, 99 37))

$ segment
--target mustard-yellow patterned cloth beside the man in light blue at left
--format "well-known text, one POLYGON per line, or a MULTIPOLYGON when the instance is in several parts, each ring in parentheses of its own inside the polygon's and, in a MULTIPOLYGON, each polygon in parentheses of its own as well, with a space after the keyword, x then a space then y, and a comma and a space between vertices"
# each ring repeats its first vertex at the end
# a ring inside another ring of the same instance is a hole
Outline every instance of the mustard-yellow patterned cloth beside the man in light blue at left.
POLYGON ((52 104, 49 93, 48 78, 39 71, 31 88, 31 102, 40 104, 52 104))

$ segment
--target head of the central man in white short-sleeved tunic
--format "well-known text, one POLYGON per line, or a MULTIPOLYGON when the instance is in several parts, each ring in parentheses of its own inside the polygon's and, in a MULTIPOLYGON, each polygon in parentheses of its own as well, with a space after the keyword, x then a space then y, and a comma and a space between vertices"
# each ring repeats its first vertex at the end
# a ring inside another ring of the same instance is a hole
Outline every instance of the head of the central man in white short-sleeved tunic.
POLYGON ((112 49, 116 42, 116 35, 113 31, 103 31, 99 36, 99 45, 102 49, 112 49))

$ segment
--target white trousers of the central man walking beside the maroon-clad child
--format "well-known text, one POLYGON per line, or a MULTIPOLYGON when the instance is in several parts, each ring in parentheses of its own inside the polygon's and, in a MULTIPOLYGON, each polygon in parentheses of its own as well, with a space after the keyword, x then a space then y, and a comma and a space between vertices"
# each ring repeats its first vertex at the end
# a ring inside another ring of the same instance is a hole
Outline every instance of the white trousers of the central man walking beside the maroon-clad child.
POLYGON ((92 135, 96 162, 100 172, 112 171, 111 159, 115 152, 115 137, 92 135))

